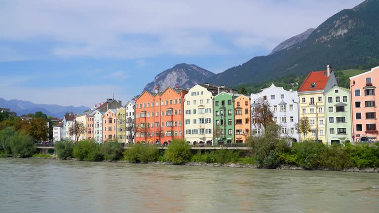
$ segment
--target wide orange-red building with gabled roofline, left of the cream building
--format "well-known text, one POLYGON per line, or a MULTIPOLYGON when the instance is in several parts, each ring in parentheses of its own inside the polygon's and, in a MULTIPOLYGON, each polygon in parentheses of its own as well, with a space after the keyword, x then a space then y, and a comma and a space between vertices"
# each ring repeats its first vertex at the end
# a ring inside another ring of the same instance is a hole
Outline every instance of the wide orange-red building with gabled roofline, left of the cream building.
POLYGON ((174 138, 184 139, 183 98, 187 90, 168 87, 162 93, 144 91, 136 97, 135 142, 168 144, 174 138))

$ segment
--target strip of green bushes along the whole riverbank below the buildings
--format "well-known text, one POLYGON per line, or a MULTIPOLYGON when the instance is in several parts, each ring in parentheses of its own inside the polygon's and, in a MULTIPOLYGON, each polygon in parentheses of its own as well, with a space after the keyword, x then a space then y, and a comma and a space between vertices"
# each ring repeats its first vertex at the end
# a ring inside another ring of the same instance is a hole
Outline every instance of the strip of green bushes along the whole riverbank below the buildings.
MULTIPOLYGON (((268 169, 305 169, 378 172, 379 143, 339 144, 327 146, 322 143, 301 142, 292 146, 286 139, 270 133, 247 140, 251 150, 243 155, 238 150, 198 150, 192 153, 184 140, 174 140, 167 149, 135 144, 124 150, 121 143, 71 141, 55 143, 57 157, 76 158, 83 161, 121 161, 130 163, 161 163, 194 166, 227 166, 268 169)), ((12 128, 0 132, 1 157, 42 157, 28 135, 12 128)))

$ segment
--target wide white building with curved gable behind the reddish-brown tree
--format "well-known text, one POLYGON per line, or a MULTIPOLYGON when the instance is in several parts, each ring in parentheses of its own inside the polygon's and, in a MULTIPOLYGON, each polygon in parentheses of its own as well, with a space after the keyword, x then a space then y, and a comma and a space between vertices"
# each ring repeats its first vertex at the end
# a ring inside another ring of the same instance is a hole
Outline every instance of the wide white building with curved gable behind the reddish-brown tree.
MULTIPOLYGON (((290 137, 299 142, 300 135, 295 129, 295 123, 299 122, 299 97, 297 91, 287 91, 283 87, 270 87, 263 89, 260 93, 251 94, 251 106, 254 110, 255 101, 259 98, 266 99, 274 112, 274 121, 281 126, 281 136, 290 137)), ((263 133, 262 127, 255 123, 252 117, 252 136, 263 133)))

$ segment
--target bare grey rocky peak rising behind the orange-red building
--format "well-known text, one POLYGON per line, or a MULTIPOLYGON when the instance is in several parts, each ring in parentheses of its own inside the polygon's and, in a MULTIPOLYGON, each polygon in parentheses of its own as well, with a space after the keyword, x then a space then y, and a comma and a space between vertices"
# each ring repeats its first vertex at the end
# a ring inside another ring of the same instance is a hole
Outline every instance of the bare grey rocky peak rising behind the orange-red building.
POLYGON ((214 75, 215 73, 196 65, 177 64, 173 68, 157 74, 154 80, 146 85, 144 90, 154 92, 156 86, 164 89, 175 86, 191 88, 197 83, 205 83, 207 78, 214 75))

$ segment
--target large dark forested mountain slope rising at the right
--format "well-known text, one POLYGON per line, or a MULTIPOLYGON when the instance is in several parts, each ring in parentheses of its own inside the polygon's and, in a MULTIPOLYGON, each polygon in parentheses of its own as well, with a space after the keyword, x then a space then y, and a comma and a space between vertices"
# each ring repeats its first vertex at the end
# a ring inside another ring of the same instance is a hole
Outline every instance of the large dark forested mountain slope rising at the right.
POLYGON ((366 0, 328 18, 305 40, 210 77, 207 81, 227 86, 261 82, 289 74, 379 65, 379 0, 366 0))

